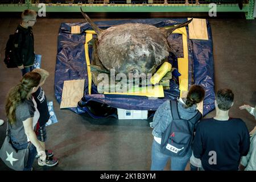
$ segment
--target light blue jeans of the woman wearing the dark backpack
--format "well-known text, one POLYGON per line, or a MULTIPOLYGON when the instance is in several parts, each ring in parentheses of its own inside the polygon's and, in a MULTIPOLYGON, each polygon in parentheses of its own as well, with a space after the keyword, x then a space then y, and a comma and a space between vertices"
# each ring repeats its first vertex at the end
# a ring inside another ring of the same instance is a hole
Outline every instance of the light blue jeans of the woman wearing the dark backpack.
POLYGON ((171 157, 160 152, 160 144, 153 140, 151 150, 151 171, 163 171, 168 159, 171 159, 171 171, 184 171, 192 155, 189 149, 184 157, 171 157))

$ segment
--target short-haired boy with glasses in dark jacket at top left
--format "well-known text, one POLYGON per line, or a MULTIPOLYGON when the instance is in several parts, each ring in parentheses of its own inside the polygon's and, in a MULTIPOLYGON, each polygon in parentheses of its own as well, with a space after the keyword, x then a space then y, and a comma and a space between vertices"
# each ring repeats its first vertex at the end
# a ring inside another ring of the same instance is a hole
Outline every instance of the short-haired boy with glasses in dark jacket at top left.
POLYGON ((32 26, 36 23, 36 12, 34 10, 24 10, 22 13, 22 23, 15 31, 13 44, 14 62, 22 71, 22 76, 33 70, 35 61, 34 35, 32 26))

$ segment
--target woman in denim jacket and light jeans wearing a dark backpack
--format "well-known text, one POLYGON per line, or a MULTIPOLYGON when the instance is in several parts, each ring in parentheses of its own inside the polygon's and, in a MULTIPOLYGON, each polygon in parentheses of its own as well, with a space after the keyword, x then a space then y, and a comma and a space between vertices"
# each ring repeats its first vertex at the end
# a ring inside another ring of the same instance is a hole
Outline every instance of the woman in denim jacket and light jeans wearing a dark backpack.
POLYGON ((159 106, 153 118, 151 170, 160 171, 171 159, 172 171, 184 171, 192 155, 192 141, 196 123, 202 115, 197 110, 205 91, 192 85, 186 98, 167 100, 159 106))

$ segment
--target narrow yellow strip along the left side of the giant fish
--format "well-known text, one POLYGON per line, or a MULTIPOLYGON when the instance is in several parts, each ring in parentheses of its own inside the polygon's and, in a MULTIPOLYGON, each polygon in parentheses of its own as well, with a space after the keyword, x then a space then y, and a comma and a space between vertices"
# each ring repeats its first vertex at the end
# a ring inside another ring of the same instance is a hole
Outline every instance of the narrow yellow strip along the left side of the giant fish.
POLYGON ((84 44, 84 51, 85 51, 85 60, 87 64, 87 74, 88 74, 88 92, 92 94, 92 73, 90 72, 90 58, 89 58, 89 47, 88 42, 92 40, 93 34, 96 34, 93 30, 86 30, 85 31, 85 44, 84 44))

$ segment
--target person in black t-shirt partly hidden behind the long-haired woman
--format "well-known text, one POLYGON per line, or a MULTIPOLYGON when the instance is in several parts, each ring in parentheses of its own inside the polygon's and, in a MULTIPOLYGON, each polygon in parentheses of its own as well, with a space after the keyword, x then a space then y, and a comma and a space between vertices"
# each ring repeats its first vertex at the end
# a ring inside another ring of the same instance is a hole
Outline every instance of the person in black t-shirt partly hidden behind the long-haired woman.
POLYGON ((46 151, 47 155, 46 162, 43 162, 42 160, 38 159, 38 165, 52 167, 58 163, 58 160, 56 158, 52 158, 52 150, 46 150, 46 123, 49 121, 50 115, 46 95, 44 94, 44 90, 41 87, 44 84, 44 81, 46 81, 46 78, 49 76, 49 73, 44 69, 34 69, 32 72, 36 72, 41 75, 39 88, 34 94, 32 94, 32 96, 36 101, 36 107, 38 108, 38 111, 40 113, 40 117, 38 119, 38 123, 36 126, 36 135, 38 137, 40 144, 42 145, 42 147, 44 147, 44 150, 46 151))

